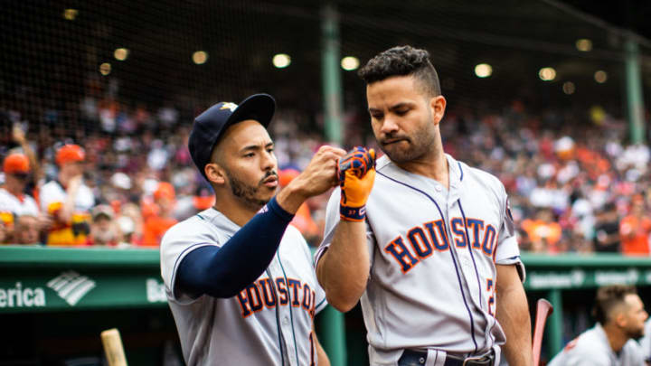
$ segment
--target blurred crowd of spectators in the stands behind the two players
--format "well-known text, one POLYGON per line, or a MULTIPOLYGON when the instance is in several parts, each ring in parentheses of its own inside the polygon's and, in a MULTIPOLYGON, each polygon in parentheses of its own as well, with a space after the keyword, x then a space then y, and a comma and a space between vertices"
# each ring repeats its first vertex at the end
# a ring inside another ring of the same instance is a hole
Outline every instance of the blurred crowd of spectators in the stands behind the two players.
MULTIPOLYGON (((187 150, 202 109, 87 96, 30 124, 20 108, 0 109, 10 126, 0 141, 0 243, 156 247, 175 222, 212 206, 187 150)), ((377 150, 368 125, 346 114, 344 147, 377 150)), ((320 128, 278 112, 270 132, 281 186, 325 144, 320 128)), ((499 112, 451 108, 441 133, 448 154, 505 184, 524 251, 649 255, 651 152, 627 144, 625 121, 601 108, 534 113, 514 101, 499 112)), ((293 222, 312 245, 328 196, 310 199, 293 222)))

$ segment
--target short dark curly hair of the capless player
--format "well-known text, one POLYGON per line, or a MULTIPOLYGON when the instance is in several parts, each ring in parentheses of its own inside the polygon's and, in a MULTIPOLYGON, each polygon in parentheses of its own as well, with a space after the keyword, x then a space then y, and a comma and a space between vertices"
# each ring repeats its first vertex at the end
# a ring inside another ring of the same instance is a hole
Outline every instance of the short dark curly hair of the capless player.
POLYGON ((429 52, 411 46, 396 46, 384 51, 357 73, 366 84, 385 80, 392 76, 411 75, 420 81, 429 96, 440 95, 439 74, 429 61, 429 52))

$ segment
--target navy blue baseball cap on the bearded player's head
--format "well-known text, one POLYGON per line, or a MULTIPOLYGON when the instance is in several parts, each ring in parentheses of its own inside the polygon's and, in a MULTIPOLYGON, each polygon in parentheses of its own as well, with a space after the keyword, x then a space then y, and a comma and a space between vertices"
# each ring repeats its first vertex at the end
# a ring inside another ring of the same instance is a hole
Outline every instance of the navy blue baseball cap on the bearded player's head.
POLYGON ((254 94, 242 100, 238 106, 231 102, 219 102, 194 118, 188 148, 193 162, 203 176, 203 168, 210 163, 212 149, 226 128, 238 122, 254 119, 267 128, 276 111, 276 100, 269 94, 254 94))

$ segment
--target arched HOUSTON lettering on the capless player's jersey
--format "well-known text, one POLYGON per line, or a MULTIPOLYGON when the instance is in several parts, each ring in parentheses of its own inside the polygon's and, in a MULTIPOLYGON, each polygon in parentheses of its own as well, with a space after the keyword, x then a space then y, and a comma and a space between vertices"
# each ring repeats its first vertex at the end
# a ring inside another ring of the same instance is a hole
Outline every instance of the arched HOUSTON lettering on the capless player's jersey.
MULTIPOLYGON (((466 248, 469 245, 488 257, 493 256, 497 239, 497 230, 493 225, 486 225, 483 220, 473 218, 467 218, 464 225, 462 218, 453 218, 449 227, 452 241, 457 248, 466 248)), ((449 240, 442 220, 429 221, 413 227, 407 232, 407 238, 398 236, 384 247, 384 251, 391 254, 401 266, 402 273, 409 272, 420 260, 428 258, 434 251, 446 250, 449 250, 449 240)))

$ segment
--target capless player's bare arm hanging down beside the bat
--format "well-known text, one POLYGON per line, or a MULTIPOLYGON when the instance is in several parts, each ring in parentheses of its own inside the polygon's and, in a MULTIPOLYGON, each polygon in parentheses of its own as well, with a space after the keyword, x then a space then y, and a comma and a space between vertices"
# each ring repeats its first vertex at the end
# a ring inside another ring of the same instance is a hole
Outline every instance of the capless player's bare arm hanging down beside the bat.
POLYGON ((531 319, 524 287, 514 266, 497 267, 496 314, 497 321, 506 335, 506 343, 503 346, 505 358, 511 366, 530 366, 533 362, 531 319), (501 282, 500 274, 508 278, 501 282))

